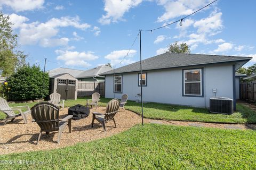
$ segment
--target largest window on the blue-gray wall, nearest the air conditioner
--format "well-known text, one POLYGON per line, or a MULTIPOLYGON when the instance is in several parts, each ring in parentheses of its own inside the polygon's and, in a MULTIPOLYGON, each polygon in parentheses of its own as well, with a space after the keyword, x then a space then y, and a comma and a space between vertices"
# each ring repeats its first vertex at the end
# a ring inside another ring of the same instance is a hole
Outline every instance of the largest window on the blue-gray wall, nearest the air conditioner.
POLYGON ((183 95, 202 96, 202 69, 183 70, 183 95))

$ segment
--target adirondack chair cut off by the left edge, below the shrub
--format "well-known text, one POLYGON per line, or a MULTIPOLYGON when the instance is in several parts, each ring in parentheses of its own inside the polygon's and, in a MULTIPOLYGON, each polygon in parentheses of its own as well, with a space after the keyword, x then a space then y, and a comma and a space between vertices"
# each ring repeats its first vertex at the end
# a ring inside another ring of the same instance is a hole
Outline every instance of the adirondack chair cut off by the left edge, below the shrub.
POLYGON ((13 120, 19 116, 21 116, 23 118, 24 123, 28 123, 27 115, 29 115, 31 113, 29 106, 9 107, 7 101, 5 99, 3 99, 2 97, 0 97, 0 111, 4 112, 6 114, 6 118, 4 120, 4 125, 7 123, 8 120, 11 120, 11 122, 13 122, 13 120), (22 112, 21 111, 22 107, 26 107, 27 111, 22 112), (14 111, 18 111, 19 113, 15 114, 14 111))

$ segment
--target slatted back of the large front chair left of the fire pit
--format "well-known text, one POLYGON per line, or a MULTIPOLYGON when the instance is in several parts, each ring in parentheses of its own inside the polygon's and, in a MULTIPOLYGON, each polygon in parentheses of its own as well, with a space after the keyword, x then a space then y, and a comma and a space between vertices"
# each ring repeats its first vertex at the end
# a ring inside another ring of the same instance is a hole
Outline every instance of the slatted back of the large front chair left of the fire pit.
POLYGON ((31 116, 42 131, 59 130, 59 107, 48 102, 41 102, 31 108, 31 116))

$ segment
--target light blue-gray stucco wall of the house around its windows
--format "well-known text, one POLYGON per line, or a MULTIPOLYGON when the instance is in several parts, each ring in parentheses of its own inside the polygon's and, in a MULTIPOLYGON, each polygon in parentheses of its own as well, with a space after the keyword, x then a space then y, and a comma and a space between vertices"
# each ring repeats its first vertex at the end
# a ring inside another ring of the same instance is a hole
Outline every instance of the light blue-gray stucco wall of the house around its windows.
MULTIPOLYGON (((204 97, 182 96, 182 69, 199 67, 183 67, 176 69, 164 69, 147 71, 147 87, 143 87, 143 100, 157 103, 187 105, 195 107, 209 107, 209 98, 214 96, 213 89, 217 89, 217 96, 233 99, 233 67, 232 64, 214 64, 200 66, 203 68, 204 97)), ((145 71, 146 72, 146 71, 145 71)), ((137 100, 140 97, 138 86, 138 72, 123 73, 122 94, 115 94, 115 98, 121 98, 128 94, 129 100, 137 100)), ((105 97, 114 98, 113 75, 106 76, 105 97)))

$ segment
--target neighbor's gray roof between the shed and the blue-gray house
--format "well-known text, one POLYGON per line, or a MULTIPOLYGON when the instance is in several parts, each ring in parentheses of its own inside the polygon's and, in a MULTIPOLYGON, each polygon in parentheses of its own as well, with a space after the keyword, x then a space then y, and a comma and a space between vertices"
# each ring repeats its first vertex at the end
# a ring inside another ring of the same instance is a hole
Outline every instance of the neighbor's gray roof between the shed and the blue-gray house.
POLYGON ((91 78, 91 77, 103 77, 99 74, 107 71, 111 71, 111 70, 113 70, 111 67, 107 65, 101 65, 93 69, 83 71, 82 73, 78 74, 76 78, 81 79, 81 78, 91 78))

